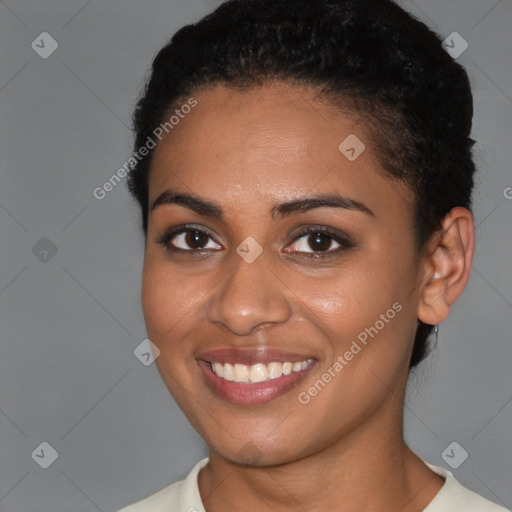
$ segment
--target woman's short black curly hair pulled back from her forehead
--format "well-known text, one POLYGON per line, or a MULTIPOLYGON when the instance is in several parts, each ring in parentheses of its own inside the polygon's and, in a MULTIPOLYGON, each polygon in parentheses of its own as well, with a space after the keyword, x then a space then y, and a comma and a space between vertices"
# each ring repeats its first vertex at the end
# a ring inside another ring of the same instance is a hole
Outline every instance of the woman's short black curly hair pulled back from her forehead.
MULTIPOLYGON (((421 251, 452 208, 471 208, 475 173, 469 79, 441 43, 390 0, 228 0, 155 57, 133 114, 134 149, 193 92, 308 87, 364 121, 384 173, 412 191, 421 251)), ((145 234, 153 152, 128 176, 145 234)), ((410 368, 428 355, 432 329, 418 319, 410 368)))

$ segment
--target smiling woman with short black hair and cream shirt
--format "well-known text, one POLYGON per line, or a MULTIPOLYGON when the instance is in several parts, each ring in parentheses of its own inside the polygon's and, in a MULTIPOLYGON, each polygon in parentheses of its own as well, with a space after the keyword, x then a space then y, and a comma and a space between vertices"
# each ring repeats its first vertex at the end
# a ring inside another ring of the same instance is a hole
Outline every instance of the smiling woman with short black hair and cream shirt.
POLYGON ((148 335, 209 457, 123 510, 505 510, 403 439, 474 252, 472 96, 438 36, 391 1, 231 0, 134 120, 148 335))

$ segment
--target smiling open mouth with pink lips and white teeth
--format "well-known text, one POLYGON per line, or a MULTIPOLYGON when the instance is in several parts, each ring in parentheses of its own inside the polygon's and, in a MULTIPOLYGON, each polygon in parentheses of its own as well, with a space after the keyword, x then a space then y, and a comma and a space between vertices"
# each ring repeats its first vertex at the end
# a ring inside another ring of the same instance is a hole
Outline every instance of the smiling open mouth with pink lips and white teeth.
POLYGON ((270 402, 292 390, 317 365, 313 357, 274 350, 220 350, 198 364, 208 387, 237 405, 270 402))

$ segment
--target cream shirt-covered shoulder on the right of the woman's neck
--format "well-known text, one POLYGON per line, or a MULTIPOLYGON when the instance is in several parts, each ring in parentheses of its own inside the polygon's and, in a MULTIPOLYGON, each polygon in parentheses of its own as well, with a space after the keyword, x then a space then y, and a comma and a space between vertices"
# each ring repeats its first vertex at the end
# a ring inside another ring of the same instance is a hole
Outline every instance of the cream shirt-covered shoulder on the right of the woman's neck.
POLYGON ((464 487, 450 471, 424 462, 446 480, 424 512, 508 512, 506 508, 464 487))

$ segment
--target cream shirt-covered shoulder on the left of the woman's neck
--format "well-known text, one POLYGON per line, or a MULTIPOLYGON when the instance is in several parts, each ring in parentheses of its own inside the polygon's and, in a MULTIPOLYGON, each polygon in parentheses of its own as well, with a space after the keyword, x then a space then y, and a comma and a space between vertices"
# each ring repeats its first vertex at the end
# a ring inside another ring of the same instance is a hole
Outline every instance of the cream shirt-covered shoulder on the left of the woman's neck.
POLYGON ((133 503, 118 512, 187 512, 204 510, 197 485, 197 475, 208 459, 199 461, 184 480, 133 503))

